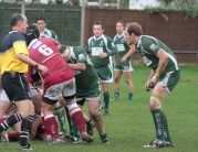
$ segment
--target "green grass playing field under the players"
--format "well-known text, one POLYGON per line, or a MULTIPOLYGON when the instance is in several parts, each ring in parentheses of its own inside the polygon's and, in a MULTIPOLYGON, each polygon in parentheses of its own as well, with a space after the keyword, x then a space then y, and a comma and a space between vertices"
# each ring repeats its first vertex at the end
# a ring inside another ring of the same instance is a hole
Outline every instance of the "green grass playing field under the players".
MULTIPOLYGON (((111 101, 108 117, 104 123, 110 138, 110 145, 103 145, 94 129, 93 143, 48 145, 46 142, 31 141, 35 152, 198 152, 198 67, 181 66, 181 79, 164 104, 170 135, 175 148, 145 149, 155 138, 152 115, 148 109, 149 93, 144 84, 149 68, 134 66, 134 99, 127 101, 127 87, 124 79, 121 85, 119 100, 111 101)), ((113 84, 111 94, 113 95, 113 84)), ((84 107, 86 111, 86 107, 84 107)), ((0 152, 18 151, 17 142, 0 143, 0 152)))

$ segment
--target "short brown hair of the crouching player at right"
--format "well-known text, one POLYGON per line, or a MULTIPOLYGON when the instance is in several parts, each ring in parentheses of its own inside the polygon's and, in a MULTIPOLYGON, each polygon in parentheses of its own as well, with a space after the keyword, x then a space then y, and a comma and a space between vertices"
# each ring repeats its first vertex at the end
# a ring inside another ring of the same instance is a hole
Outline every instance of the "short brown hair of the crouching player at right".
POLYGON ((127 32, 129 35, 132 33, 134 33, 136 36, 143 35, 143 30, 142 30, 140 24, 133 22, 133 23, 126 24, 126 26, 127 26, 127 32))

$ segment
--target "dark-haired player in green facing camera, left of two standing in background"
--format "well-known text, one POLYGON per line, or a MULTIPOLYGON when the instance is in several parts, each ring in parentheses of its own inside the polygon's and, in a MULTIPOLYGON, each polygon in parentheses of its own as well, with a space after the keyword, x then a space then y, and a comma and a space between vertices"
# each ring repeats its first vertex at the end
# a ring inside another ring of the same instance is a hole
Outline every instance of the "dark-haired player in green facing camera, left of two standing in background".
POLYGON ((110 93, 108 84, 113 83, 112 55, 117 53, 113 40, 103 34, 104 25, 96 21, 93 24, 94 36, 87 41, 86 52, 90 54, 93 66, 102 82, 104 97, 104 115, 108 116, 110 93))

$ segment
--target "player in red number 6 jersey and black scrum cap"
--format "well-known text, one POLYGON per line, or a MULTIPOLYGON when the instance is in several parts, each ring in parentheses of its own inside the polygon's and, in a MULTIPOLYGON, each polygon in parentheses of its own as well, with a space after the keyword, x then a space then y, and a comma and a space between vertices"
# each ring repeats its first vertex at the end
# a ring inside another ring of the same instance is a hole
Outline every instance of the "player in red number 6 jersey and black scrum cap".
MULTIPOLYGON (((44 113, 46 138, 50 139, 50 144, 62 142, 58 131, 58 122, 53 115, 60 94, 62 94, 63 98, 66 100, 65 104, 70 116, 76 122, 82 140, 92 142, 93 138, 86 132, 82 110, 77 107, 75 101, 75 78, 73 70, 67 66, 59 53, 58 46, 60 43, 50 37, 41 37, 39 40, 38 37, 38 28, 35 25, 30 25, 25 33, 27 44, 29 45, 29 56, 35 59, 38 65, 42 64, 49 68, 49 73, 42 75, 44 79, 42 109, 44 113)), ((37 77, 39 75, 37 66, 30 66, 29 74, 32 78, 37 77)))

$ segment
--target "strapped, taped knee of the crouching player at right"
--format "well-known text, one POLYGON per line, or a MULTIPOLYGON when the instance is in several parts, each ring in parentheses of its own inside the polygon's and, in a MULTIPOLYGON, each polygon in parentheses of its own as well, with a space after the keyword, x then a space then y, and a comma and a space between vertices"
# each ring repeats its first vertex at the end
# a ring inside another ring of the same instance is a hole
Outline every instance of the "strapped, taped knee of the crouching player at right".
POLYGON ((157 90, 152 91, 149 108, 150 110, 159 109, 165 97, 157 90))

